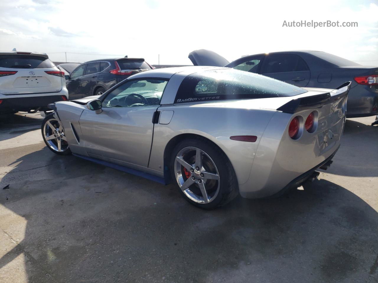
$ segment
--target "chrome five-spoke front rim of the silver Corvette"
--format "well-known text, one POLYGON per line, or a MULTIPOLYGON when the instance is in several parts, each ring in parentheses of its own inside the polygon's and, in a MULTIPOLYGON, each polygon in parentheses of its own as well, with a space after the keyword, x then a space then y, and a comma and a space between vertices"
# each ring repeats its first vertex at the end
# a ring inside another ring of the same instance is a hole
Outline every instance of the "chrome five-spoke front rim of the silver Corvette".
POLYGON ((64 152, 68 149, 67 138, 62 125, 55 118, 47 120, 43 126, 43 135, 46 143, 51 149, 57 152, 64 152))

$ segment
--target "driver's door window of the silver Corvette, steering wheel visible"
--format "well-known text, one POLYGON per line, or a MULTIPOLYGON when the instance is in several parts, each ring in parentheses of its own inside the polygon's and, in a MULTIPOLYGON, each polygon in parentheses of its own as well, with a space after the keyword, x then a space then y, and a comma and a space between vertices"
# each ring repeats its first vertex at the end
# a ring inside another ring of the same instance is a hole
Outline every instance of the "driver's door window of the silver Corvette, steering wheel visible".
POLYGON ((167 80, 146 78, 130 80, 113 89, 105 97, 102 107, 136 107, 159 105, 167 80))

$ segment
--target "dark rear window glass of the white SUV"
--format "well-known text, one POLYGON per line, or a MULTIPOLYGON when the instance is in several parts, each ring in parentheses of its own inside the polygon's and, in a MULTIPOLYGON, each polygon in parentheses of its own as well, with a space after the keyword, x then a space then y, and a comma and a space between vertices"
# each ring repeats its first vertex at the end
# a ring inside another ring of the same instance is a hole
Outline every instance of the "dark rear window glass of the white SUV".
POLYGON ((36 55, 0 55, 0 67, 16 69, 52 68, 54 63, 50 59, 36 55))

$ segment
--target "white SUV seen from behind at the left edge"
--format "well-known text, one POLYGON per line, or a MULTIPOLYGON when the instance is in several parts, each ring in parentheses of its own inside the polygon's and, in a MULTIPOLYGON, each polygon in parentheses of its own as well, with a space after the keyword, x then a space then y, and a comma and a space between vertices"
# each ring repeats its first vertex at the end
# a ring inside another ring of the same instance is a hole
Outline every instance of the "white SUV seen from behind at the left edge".
POLYGON ((0 52, 0 114, 48 111, 67 100, 64 72, 45 53, 0 52))

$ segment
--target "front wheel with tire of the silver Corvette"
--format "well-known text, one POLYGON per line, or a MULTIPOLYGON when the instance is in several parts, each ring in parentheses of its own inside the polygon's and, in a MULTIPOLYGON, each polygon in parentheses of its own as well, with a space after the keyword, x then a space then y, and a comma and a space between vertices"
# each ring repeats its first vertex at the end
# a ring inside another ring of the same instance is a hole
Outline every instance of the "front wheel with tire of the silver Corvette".
POLYGON ((60 155, 71 154, 64 129, 53 113, 43 119, 41 130, 43 140, 52 152, 60 155))

